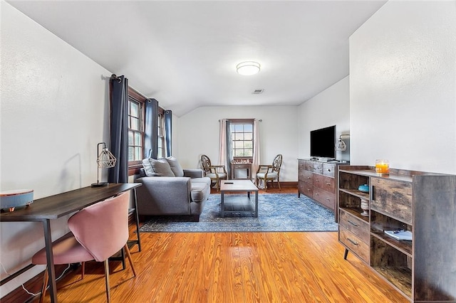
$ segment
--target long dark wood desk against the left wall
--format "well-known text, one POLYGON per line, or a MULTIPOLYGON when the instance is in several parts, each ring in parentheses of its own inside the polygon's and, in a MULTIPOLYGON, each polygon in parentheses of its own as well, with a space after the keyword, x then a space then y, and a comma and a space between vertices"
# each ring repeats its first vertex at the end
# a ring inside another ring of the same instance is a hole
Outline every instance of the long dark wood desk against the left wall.
MULTIPOLYGON (((0 220, 2 222, 33 221, 43 223, 51 302, 57 302, 56 272, 54 270, 52 252, 51 220, 61 218, 87 206, 103 201, 106 198, 115 196, 118 193, 123 193, 124 191, 130 191, 132 189, 133 199, 136 206, 135 188, 138 186, 141 186, 141 184, 109 184, 108 186, 102 187, 88 186, 75 189, 74 191, 67 191, 66 193, 59 193, 54 196, 37 199, 33 201, 31 206, 10 213, 0 214, 0 220)), ((136 213, 138 214, 138 211, 136 211, 136 213)), ((138 218, 136 219, 138 222, 138 218)))

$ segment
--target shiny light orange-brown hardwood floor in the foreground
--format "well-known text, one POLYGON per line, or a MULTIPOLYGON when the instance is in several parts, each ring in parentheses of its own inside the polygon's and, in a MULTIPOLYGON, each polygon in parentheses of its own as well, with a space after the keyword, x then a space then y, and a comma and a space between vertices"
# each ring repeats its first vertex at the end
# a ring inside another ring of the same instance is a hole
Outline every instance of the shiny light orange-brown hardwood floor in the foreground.
MULTIPOLYGON (((269 191, 272 192, 272 191, 269 191)), ((284 192, 284 191, 281 191, 284 192)), ((133 230, 133 229, 132 229, 133 230)), ((141 233, 142 251, 110 262, 112 302, 408 302, 337 233, 141 233)), ((103 265, 58 282, 59 302, 105 302, 103 265)), ((45 302, 49 302, 46 294, 45 302)))

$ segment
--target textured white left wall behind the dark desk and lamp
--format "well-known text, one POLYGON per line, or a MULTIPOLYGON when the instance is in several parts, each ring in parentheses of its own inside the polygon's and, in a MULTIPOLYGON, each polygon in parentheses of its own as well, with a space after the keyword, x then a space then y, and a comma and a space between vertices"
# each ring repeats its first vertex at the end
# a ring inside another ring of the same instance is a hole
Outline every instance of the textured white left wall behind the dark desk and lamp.
MULTIPOLYGON (((111 73, 6 2, 0 5, 0 189, 31 188, 34 198, 43 198, 89 186, 96 181, 96 145, 108 139, 103 76, 111 73)), ((53 238, 66 233, 67 219, 53 220, 53 238)), ((41 223, 0 227, 0 261, 10 273, 44 246, 41 223)), ((33 267, 6 283, 0 297, 41 270, 33 267)))

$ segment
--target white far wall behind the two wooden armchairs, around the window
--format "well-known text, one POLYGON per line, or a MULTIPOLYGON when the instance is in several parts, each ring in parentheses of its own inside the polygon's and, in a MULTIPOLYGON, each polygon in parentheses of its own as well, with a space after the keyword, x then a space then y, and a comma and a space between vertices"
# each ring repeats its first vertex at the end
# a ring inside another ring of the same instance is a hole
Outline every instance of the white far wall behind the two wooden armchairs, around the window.
MULTIPOLYGON (((214 164, 219 161, 219 119, 262 119, 261 164, 272 164, 276 154, 284 156, 281 181, 297 181, 298 112, 296 106, 199 107, 179 119, 177 157, 182 167, 195 169, 201 154, 214 164)), ((176 134, 175 134, 176 135, 176 134)))

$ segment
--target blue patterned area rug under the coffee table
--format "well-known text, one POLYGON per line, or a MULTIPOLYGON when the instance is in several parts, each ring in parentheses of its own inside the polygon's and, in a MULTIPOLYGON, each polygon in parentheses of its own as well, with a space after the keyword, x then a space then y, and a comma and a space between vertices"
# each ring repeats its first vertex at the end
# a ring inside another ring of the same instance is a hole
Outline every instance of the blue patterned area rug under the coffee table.
MULTIPOLYGON (((236 198, 239 195, 225 195, 236 198)), ((254 195, 252 195, 252 200, 254 195)), ((220 215, 220 194, 211 194, 199 222, 188 222, 186 216, 150 217, 141 232, 271 232, 271 231, 336 231, 331 211, 304 195, 264 193, 258 195, 258 218, 249 213, 220 215)))

